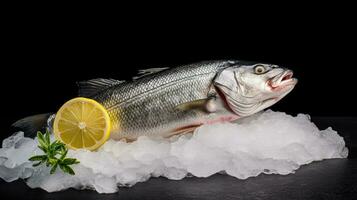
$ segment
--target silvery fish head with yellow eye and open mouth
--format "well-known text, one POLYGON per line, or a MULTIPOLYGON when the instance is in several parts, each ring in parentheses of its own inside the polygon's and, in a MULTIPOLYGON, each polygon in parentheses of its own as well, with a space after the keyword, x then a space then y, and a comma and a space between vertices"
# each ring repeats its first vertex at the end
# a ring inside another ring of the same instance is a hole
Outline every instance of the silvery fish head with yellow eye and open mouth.
POLYGON ((296 85, 293 71, 271 64, 233 64, 214 79, 214 85, 228 107, 239 116, 268 108, 296 85))

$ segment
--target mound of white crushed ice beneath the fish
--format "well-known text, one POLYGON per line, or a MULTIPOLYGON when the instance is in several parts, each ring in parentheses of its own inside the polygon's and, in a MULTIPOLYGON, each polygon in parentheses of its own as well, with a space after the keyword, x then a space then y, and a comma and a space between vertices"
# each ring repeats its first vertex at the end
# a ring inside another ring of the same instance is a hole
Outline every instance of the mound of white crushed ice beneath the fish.
POLYGON ((72 187, 113 193, 120 186, 158 176, 180 180, 218 172, 239 179, 261 173, 286 175, 312 161, 346 158, 348 150, 336 131, 320 131, 308 115, 293 117, 268 110, 170 139, 143 136, 132 143, 109 140, 97 152, 70 150, 69 157, 80 160, 73 167, 75 176, 60 170, 50 175, 45 166, 33 168, 28 158, 36 154, 41 154, 37 138, 18 132, 5 139, 0 149, 0 177, 8 182, 26 179, 31 188, 48 192, 72 187))

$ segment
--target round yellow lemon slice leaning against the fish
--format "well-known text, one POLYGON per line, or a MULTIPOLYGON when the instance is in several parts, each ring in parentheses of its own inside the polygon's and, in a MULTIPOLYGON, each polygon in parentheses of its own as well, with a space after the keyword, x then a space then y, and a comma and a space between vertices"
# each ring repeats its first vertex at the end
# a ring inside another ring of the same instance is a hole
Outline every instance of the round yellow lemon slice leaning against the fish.
POLYGON ((53 131, 71 149, 95 150, 108 140, 110 126, 109 115, 101 104, 78 97, 59 109, 53 131))

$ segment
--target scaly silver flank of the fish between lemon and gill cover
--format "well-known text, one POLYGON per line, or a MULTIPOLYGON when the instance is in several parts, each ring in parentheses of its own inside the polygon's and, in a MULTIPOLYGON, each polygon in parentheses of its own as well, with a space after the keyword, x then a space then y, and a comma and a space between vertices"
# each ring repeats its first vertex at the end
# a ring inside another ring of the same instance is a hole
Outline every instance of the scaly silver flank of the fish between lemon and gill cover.
POLYGON ((177 111, 175 107, 207 98, 212 79, 227 63, 207 62, 165 70, 111 87, 93 98, 108 110, 112 138, 169 136, 175 128, 207 115, 196 110, 177 111))

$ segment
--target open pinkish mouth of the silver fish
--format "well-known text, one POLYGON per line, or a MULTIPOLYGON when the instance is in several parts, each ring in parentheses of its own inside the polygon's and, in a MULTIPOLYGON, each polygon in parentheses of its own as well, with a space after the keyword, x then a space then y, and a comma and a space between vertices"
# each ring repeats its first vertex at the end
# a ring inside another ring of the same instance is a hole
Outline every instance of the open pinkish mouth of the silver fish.
POLYGON ((281 90, 287 86, 293 86, 297 83, 297 79, 293 78, 293 71, 286 70, 281 74, 269 79, 267 85, 271 90, 281 90))

